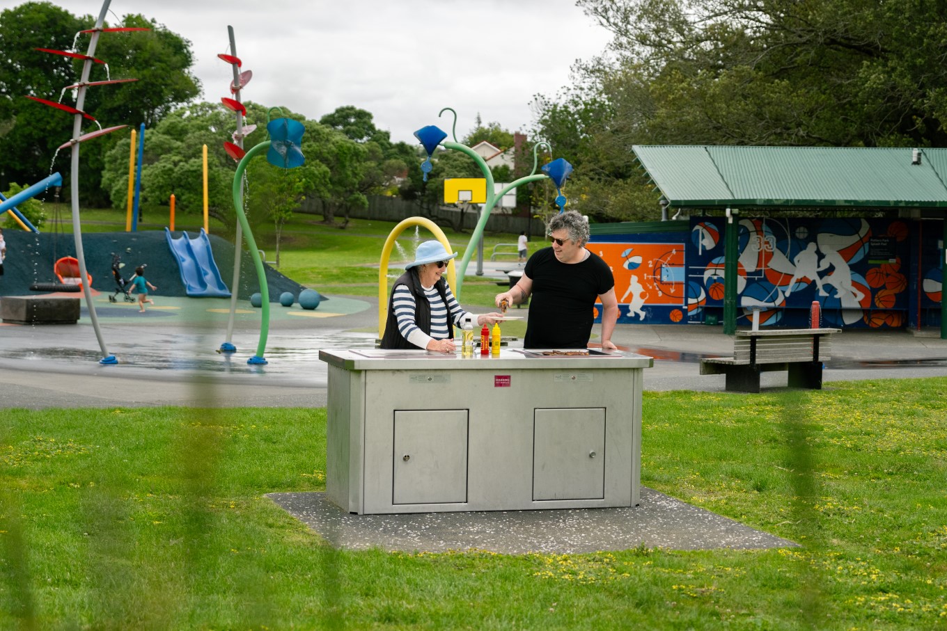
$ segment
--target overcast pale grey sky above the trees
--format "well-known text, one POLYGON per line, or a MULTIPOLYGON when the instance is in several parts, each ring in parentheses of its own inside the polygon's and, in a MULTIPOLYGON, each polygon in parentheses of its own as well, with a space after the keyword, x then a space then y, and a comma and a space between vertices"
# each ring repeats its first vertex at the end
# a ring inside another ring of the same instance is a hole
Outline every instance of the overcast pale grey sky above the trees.
MULTIPOLYGON (((4 9, 19 4, 0 0, 4 9)), ((54 4, 94 16, 102 6, 54 4)), ((253 71, 244 100, 313 119, 354 105, 393 140, 411 143, 425 125, 451 132, 453 116, 438 119, 444 107, 458 114, 458 139, 477 113, 527 130, 533 96, 558 94, 574 61, 600 54, 610 39, 575 0, 112 0, 107 20, 127 13, 190 41, 206 100, 230 96, 231 69, 217 54, 229 52, 233 26, 242 69, 253 71)))

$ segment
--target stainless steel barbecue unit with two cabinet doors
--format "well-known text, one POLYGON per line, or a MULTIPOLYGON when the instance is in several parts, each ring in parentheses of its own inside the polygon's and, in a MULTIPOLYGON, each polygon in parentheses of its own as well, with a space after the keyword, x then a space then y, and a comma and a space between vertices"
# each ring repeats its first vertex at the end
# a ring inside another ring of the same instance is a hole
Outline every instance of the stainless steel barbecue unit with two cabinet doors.
POLYGON ((359 514, 637 504, 653 360, 567 352, 321 351, 330 500, 359 514))

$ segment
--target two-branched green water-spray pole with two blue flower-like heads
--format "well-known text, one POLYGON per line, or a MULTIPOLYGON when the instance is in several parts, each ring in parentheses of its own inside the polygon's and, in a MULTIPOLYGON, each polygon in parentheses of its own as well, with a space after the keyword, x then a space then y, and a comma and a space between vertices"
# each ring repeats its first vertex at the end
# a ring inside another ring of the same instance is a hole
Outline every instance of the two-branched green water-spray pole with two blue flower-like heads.
MULTIPOLYGON (((454 114, 454 127, 452 128, 452 133, 454 136, 454 141, 444 140, 447 138, 447 132, 439 129, 435 125, 428 125, 423 127, 418 131, 415 131, 415 137, 420 141, 421 146, 424 150, 427 151, 427 159, 421 163, 421 171, 424 173, 424 181, 427 182, 427 174, 431 172, 433 165, 431 164, 431 157, 434 154, 435 149, 438 146, 443 147, 444 149, 453 149, 456 151, 461 151, 466 153, 471 158, 474 159, 477 167, 480 168, 480 172, 483 173, 484 180, 486 181, 486 202, 483 205, 483 209, 480 211, 480 218, 477 220, 476 227, 474 227, 474 232, 471 235, 470 242, 467 244, 467 248, 464 249, 464 255, 460 259, 460 273, 456 278, 456 287, 452 287, 454 295, 457 300, 460 300, 461 291, 463 290, 464 275, 467 273, 467 265, 470 263, 471 257, 474 255, 474 249, 477 243, 480 242, 483 237, 484 228, 487 226, 487 220, 490 219, 491 212, 493 207, 503 199, 503 197, 512 191, 513 189, 530 182, 539 182, 549 178, 556 184, 556 204, 559 206, 560 212, 563 212, 566 204, 566 198, 562 193, 563 184, 565 184, 566 179, 568 179, 569 174, 572 172, 572 165, 566 162, 563 158, 553 160, 552 162, 546 164, 543 167, 543 174, 536 173, 536 167, 538 164, 538 155, 537 152, 540 147, 545 147, 550 153, 552 152, 552 147, 545 141, 536 143, 533 146, 533 168, 530 171, 529 175, 519 178, 510 184, 507 184, 504 188, 499 191, 495 190, 493 185, 493 174, 490 170, 490 167, 487 166, 487 163, 484 161, 483 157, 466 145, 462 145, 457 142, 457 113, 449 108, 443 108, 438 116, 444 114, 444 112, 451 112, 454 114)), ((446 246, 445 246, 446 247, 446 246)), ((450 248, 448 248, 450 252, 450 248)))

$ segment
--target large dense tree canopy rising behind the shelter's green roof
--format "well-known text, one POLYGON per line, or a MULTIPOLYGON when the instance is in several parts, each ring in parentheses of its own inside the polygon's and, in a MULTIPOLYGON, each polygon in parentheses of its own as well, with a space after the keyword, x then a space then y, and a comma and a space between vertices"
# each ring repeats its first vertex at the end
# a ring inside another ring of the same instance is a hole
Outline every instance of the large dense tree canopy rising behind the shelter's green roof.
POLYGON ((943 146, 947 5, 925 0, 579 0, 607 59, 538 96, 538 132, 599 218, 654 219, 633 144, 943 146), (643 204, 643 205, 642 205, 643 204))

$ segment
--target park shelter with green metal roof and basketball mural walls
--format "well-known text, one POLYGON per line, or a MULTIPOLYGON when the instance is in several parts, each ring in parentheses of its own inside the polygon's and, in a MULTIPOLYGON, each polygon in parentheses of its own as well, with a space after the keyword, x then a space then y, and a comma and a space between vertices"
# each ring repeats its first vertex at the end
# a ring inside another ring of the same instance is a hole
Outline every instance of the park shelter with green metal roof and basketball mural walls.
POLYGON ((619 321, 732 333, 754 310, 762 325, 808 325, 817 302, 826 325, 945 322, 947 149, 633 149, 662 221, 594 225, 590 246, 616 271, 619 321))

